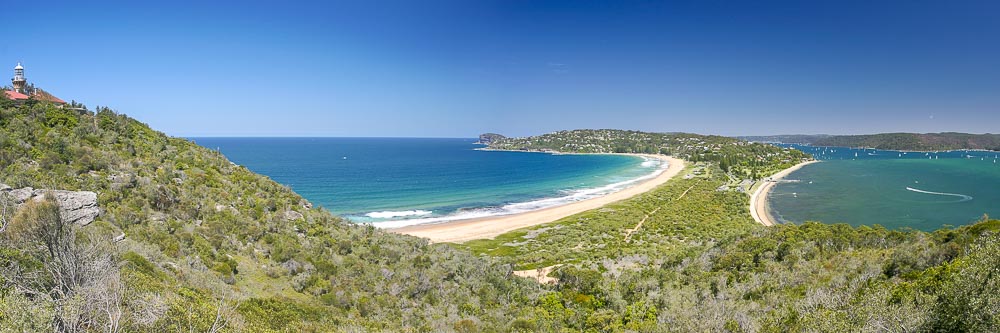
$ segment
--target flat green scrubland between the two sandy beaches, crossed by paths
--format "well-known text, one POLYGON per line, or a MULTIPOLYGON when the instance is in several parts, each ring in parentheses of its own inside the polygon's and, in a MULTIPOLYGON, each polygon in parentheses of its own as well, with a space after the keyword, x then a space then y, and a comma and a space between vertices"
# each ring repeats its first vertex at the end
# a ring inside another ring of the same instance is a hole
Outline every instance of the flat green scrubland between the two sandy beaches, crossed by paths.
MULTIPOLYGON (((682 174, 703 167, 688 167, 682 174)), ((706 244, 754 228, 745 194, 715 190, 725 181, 716 168, 699 177, 669 181, 654 191, 601 209, 458 247, 515 258, 511 263, 519 270, 616 258, 676 261, 706 248, 706 244), (637 228, 639 222, 642 225, 637 228)), ((626 268, 632 264, 616 265, 626 268)))

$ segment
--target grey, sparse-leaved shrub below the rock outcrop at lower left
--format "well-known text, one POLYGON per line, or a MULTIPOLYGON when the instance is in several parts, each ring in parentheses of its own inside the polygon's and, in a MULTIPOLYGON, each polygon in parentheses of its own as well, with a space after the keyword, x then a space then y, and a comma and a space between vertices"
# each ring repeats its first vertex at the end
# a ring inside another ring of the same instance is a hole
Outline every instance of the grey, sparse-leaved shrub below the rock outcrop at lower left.
POLYGON ((0 262, 4 287, 33 298, 33 306, 51 307, 53 331, 118 332, 125 285, 114 249, 77 228, 62 220, 51 194, 22 205, 0 237, 2 246, 20 249, 17 260, 0 262))

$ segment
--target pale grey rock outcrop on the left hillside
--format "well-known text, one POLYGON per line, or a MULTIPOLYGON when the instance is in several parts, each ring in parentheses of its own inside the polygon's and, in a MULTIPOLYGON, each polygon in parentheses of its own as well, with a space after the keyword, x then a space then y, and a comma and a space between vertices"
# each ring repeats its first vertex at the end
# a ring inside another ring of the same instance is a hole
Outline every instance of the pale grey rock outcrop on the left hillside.
POLYGON ((97 193, 90 191, 63 191, 33 189, 30 187, 13 189, 6 184, 0 184, 0 195, 8 195, 14 203, 21 205, 28 200, 41 201, 46 193, 52 193, 59 205, 59 216, 65 223, 88 225, 101 214, 97 207, 97 193))

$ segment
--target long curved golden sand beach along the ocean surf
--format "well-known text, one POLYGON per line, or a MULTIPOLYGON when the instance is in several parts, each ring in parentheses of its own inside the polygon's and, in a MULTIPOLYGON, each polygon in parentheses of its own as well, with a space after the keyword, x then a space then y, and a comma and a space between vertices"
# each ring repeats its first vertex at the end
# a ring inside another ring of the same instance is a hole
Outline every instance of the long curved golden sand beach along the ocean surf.
POLYGON ((461 243, 473 239, 493 238, 514 229, 556 221, 573 214, 600 208, 616 201, 631 198, 637 194, 649 191, 660 184, 665 183, 667 180, 670 180, 670 178, 676 176, 681 172, 681 170, 684 169, 684 161, 681 159, 662 155, 630 155, 658 158, 666 161, 668 167, 656 177, 636 184, 632 187, 628 187, 605 196, 581 200, 561 206, 549 207, 520 214, 458 220, 436 224, 418 224, 387 230, 401 234, 424 237, 430 239, 433 243, 461 243))

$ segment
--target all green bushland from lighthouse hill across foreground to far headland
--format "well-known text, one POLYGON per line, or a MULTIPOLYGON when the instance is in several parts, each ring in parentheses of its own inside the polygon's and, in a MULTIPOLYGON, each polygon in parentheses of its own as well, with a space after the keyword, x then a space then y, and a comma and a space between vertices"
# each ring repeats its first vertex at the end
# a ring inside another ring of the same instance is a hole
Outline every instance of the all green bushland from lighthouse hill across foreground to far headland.
POLYGON ((691 177, 602 209, 494 240, 428 245, 347 223, 216 151, 107 108, 0 100, 0 183, 93 191, 101 211, 86 226, 66 224, 51 198, 18 206, 0 196, 0 331, 1000 327, 1000 221, 934 233, 765 228, 749 217, 746 194, 716 189, 800 152, 687 134, 569 133, 587 136, 491 147, 658 147, 698 161, 691 177), (511 275, 556 264, 553 285, 511 275))

